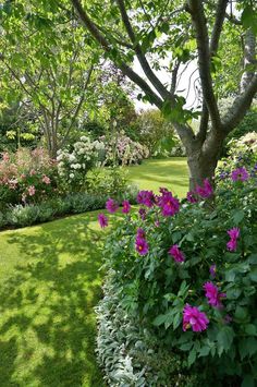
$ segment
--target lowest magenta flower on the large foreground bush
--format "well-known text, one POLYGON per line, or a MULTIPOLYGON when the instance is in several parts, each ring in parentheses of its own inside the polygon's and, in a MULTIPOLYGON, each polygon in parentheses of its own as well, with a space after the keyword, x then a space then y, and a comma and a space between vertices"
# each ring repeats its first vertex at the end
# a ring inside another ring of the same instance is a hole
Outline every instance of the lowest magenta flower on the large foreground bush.
POLYGON ((183 330, 192 328, 193 331, 203 331, 207 329, 209 319, 198 307, 186 304, 183 310, 183 330))

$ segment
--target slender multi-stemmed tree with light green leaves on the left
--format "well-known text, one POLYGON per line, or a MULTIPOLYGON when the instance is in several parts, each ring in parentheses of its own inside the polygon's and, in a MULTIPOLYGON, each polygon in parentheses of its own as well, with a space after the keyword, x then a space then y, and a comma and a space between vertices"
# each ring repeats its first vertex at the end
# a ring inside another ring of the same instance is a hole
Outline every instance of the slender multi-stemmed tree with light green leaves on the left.
POLYGON ((15 100, 10 87, 15 82, 20 88, 17 102, 22 98, 23 105, 30 107, 49 155, 54 158, 76 126, 82 108, 89 106, 90 81, 98 58, 96 51, 87 48, 86 36, 75 21, 63 20, 59 14, 53 20, 53 14, 35 14, 33 7, 24 8, 22 3, 15 7, 20 16, 26 17, 21 23, 9 9, 5 14, 2 12, 2 98, 11 94, 15 100))

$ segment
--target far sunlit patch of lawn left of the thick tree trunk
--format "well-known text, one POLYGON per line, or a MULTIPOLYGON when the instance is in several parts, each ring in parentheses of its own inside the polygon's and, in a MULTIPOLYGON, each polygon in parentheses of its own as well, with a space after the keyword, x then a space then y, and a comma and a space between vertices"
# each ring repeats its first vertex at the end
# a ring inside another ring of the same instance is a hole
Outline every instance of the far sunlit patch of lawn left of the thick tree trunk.
POLYGON ((166 186, 179 197, 188 191, 188 171, 185 157, 144 160, 140 166, 128 167, 128 179, 140 190, 158 192, 166 186))

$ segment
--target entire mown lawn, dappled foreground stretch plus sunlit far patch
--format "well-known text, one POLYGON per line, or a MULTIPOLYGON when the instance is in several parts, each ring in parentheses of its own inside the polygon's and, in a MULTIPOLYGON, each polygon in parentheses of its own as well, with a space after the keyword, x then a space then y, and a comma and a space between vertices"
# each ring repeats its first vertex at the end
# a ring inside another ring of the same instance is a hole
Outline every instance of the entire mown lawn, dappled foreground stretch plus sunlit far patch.
MULTIPOLYGON (((180 194, 185 161, 174 162, 150 160, 130 177, 140 189, 173 185, 180 194)), ((94 211, 0 233, 0 386, 103 386, 95 356, 103 240, 96 218, 94 211)))

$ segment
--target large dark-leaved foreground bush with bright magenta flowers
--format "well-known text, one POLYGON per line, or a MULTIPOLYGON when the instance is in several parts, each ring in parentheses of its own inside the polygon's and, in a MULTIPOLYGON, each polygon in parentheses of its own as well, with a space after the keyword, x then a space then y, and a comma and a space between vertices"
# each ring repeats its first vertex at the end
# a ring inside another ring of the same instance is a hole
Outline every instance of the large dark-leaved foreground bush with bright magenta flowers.
MULTIPOLYGON (((138 194, 105 250, 119 307, 169 351, 223 385, 257 378, 257 195, 253 179, 227 179, 216 206, 169 191, 138 194), (144 210, 144 216, 143 215, 144 210)), ((196 190, 197 191, 197 190, 196 190)), ((199 190, 198 190, 199 191, 199 190)), ((155 349, 157 350, 157 349, 155 349)), ((172 356, 172 353, 171 353, 172 356)))

